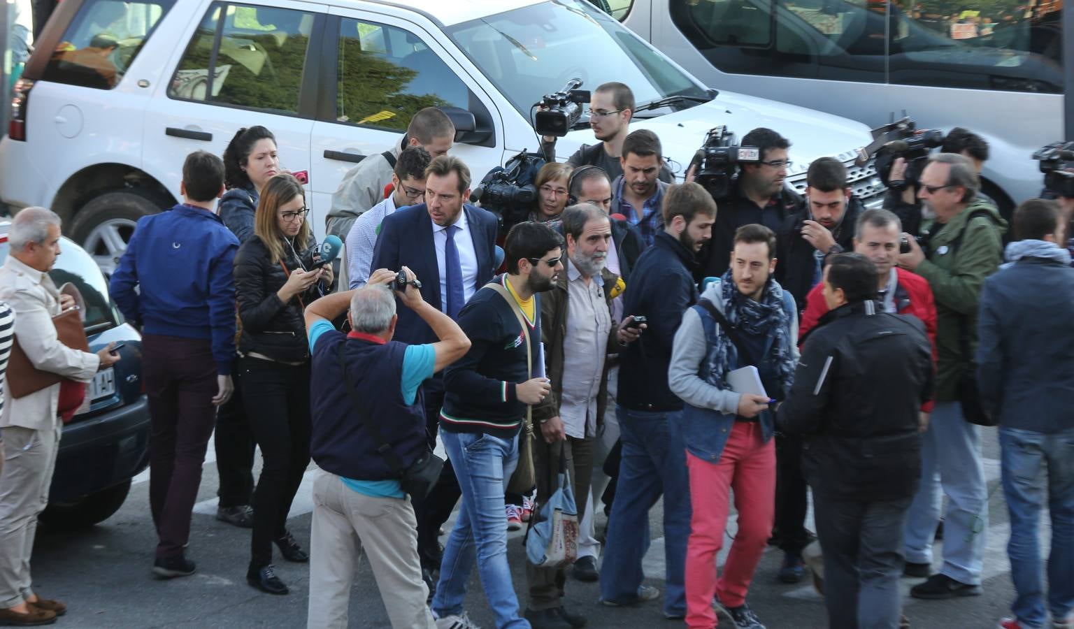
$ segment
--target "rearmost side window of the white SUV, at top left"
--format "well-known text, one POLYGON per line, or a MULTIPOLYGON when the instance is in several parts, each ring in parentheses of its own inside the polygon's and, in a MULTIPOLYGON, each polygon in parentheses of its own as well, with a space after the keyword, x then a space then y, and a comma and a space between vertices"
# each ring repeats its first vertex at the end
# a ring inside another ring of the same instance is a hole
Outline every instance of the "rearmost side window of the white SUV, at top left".
POLYGON ((112 89, 174 3, 87 0, 53 52, 44 79, 112 89))

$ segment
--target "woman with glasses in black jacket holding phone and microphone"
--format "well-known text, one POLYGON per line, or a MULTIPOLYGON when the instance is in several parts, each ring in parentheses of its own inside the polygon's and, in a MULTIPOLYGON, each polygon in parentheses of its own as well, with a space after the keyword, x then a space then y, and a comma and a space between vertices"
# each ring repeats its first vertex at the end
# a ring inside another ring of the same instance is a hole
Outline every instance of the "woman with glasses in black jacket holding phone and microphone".
POLYGON ((243 404, 264 460, 253 494, 246 580, 277 595, 288 588, 272 566, 272 544, 289 561, 309 560, 286 526, 309 464, 309 346, 303 310, 332 283, 331 266, 311 263, 308 211, 297 179, 270 178, 261 189, 253 236, 235 255, 243 404))

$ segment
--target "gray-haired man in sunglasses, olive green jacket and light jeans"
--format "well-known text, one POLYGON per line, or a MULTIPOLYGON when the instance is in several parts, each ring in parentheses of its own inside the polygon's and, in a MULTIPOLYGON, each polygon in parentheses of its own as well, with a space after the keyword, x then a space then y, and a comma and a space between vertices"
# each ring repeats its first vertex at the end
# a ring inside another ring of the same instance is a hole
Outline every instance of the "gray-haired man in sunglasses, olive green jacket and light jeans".
POLYGON ((964 420, 960 384, 973 374, 981 289, 1002 261, 1006 221, 978 196, 979 188, 969 159, 949 152, 931 156, 921 172, 917 195, 935 216, 932 235, 923 250, 904 233, 910 252, 899 255, 899 266, 924 277, 932 288, 940 355, 935 406, 921 440, 921 484, 906 522, 906 575, 929 576, 932 539, 940 518, 938 486, 943 486, 948 499, 943 566, 938 574, 910 590, 914 598, 981 594, 988 495, 981 462, 981 428, 964 420))

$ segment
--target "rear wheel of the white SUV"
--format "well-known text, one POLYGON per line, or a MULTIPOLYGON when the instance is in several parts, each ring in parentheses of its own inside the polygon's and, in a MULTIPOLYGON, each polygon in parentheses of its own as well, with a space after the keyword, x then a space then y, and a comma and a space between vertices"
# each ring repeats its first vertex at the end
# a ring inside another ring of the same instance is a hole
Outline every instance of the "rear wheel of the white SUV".
POLYGON ((93 257, 104 275, 112 275, 127 251, 137 219, 171 205, 171 201, 142 192, 106 192, 75 213, 71 239, 93 257))

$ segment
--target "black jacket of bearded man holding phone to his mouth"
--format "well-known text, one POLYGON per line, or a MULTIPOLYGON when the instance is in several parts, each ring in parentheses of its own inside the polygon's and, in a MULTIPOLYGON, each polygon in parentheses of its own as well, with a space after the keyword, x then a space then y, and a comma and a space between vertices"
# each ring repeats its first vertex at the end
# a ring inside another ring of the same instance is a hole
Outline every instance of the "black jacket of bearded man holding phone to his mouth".
MULTIPOLYGON (((808 208, 804 203, 802 207, 808 208)), ((833 252, 854 250, 854 226, 862 211, 865 207, 861 201, 857 196, 851 196, 843 220, 832 233, 838 246, 833 252)), ((775 281, 794 295, 799 313, 806 309, 806 296, 813 288, 816 270, 816 249, 802 237, 802 223, 809 218, 808 209, 795 213, 784 219, 783 228, 777 233, 775 258, 779 262, 775 264, 775 281)))

